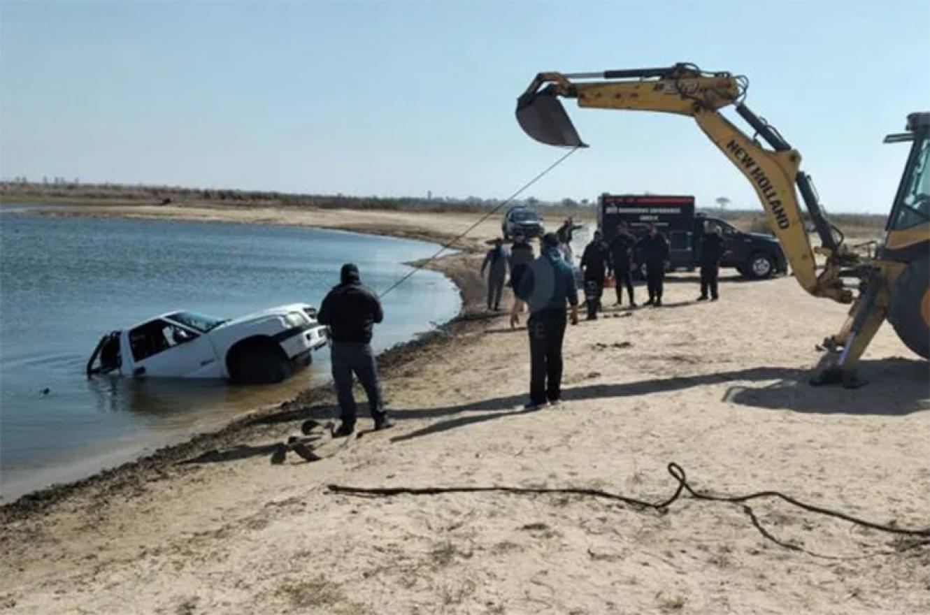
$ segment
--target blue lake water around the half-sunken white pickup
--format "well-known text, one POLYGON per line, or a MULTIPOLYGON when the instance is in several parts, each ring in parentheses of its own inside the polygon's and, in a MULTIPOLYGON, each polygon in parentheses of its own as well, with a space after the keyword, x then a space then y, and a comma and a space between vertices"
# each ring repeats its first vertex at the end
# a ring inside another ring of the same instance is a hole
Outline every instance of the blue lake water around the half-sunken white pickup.
MULTIPOLYGON (((215 429, 329 378, 324 348, 310 369, 274 386, 88 380, 85 363, 102 334, 178 308, 228 318, 296 301, 319 306, 347 261, 384 290, 409 271, 403 263, 438 248, 332 230, 16 210, 0 207, 4 502, 215 429)), ((385 297, 374 344, 407 341, 459 306, 451 281, 419 271, 385 297)))

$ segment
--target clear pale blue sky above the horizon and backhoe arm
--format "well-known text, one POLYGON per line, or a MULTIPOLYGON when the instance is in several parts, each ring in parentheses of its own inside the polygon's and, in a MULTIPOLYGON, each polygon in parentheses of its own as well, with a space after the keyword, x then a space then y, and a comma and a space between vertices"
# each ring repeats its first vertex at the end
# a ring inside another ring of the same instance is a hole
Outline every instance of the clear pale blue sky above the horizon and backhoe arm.
MULTIPOLYGON (((930 107, 930 3, 0 4, 0 175, 354 195, 503 197, 561 152, 514 102, 540 71, 696 62, 804 156, 828 210, 887 211, 930 107)), ((590 150, 525 196, 727 196, 689 118, 578 110, 590 150)))

